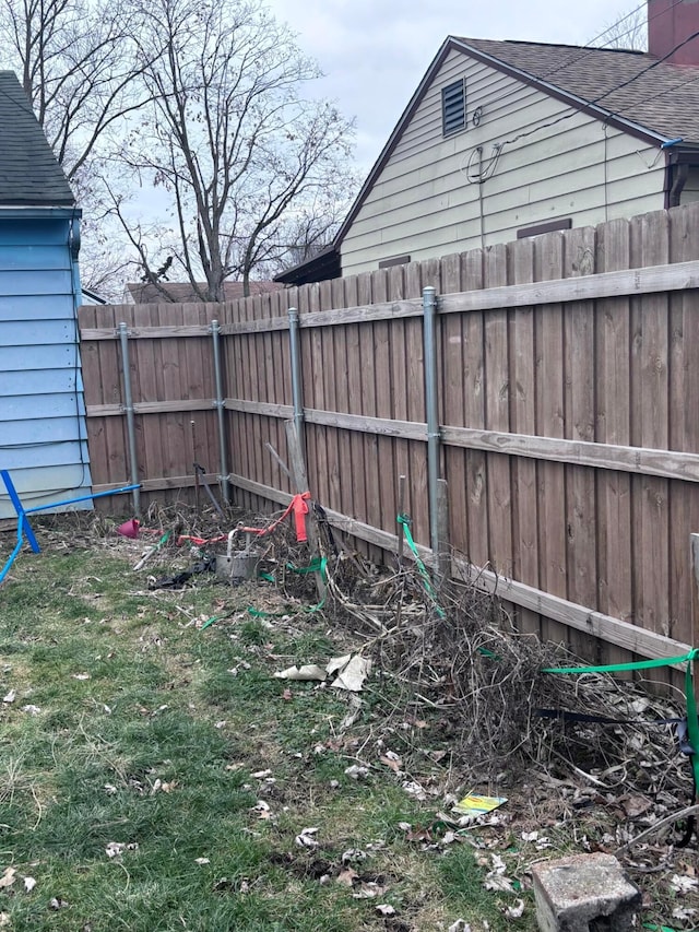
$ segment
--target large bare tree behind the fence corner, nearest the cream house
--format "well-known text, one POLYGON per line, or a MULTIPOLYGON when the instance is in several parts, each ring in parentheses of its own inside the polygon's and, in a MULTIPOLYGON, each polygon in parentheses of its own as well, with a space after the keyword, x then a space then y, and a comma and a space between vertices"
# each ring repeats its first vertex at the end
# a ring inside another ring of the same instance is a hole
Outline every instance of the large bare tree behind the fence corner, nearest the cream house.
POLYGON ((256 267, 284 251, 289 217, 323 192, 347 197, 352 125, 306 97, 316 63, 258 3, 143 0, 139 12, 153 103, 120 157, 171 196, 171 223, 145 235, 123 200, 115 209, 146 281, 157 286, 156 267, 173 255, 202 300, 222 300, 232 275, 247 294, 256 267))

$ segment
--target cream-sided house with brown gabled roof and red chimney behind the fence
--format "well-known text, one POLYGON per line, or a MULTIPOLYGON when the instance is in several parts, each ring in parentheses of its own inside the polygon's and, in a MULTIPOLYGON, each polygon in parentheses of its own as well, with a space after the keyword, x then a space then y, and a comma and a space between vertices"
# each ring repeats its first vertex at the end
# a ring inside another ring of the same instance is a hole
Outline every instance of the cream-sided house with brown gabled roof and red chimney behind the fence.
POLYGON ((449 36, 332 247, 287 284, 699 200, 699 2, 649 52, 449 36))

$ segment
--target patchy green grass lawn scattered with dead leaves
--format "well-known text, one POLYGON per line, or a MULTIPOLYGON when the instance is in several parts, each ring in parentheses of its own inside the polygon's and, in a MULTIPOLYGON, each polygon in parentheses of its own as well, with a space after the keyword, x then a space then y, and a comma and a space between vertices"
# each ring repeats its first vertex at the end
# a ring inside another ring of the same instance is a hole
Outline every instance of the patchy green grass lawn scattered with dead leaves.
POLYGON ((38 536, 0 588, 0 929, 536 928, 529 865, 584 850, 558 802, 543 825, 506 790, 460 830, 449 740, 388 681, 343 728, 346 692, 275 679, 356 650, 351 626, 270 582, 149 591, 170 565, 133 573, 141 541, 38 536))

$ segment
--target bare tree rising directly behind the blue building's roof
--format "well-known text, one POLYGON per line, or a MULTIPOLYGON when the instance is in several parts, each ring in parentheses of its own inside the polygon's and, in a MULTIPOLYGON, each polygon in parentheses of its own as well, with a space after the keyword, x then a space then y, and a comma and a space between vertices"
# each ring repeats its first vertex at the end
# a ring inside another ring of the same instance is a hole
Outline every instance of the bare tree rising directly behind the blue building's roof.
POLYGON ((82 280, 112 297, 128 260, 122 229, 105 210, 100 163, 149 99, 132 38, 138 11, 126 2, 0 0, 3 66, 17 73, 83 209, 82 280))

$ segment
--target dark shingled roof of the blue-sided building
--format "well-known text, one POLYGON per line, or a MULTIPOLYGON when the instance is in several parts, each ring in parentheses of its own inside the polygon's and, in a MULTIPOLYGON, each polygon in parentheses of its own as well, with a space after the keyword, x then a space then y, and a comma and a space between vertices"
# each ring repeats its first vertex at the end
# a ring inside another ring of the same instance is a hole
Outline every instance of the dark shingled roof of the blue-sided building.
POLYGON ((75 198, 16 75, 0 71, 0 207, 72 207, 75 198))

